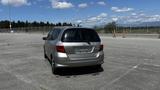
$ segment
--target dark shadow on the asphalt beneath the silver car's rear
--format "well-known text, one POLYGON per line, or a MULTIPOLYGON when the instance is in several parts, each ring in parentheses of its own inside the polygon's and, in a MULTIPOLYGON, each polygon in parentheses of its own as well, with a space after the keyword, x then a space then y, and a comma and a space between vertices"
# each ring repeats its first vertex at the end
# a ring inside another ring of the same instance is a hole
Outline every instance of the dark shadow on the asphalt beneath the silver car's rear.
POLYGON ((84 75, 92 74, 98 75, 103 72, 103 67, 98 66, 87 66, 87 67, 76 67, 76 68, 61 68, 58 70, 57 75, 60 76, 74 76, 74 75, 84 75))

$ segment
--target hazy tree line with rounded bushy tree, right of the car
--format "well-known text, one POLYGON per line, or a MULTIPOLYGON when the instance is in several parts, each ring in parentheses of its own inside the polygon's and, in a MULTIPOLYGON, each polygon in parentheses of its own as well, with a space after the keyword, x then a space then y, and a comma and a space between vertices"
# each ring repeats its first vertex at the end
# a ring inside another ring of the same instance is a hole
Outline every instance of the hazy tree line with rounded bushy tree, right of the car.
POLYGON ((160 26, 120 26, 116 22, 109 22, 101 27, 94 27, 98 32, 105 33, 160 33, 160 26))

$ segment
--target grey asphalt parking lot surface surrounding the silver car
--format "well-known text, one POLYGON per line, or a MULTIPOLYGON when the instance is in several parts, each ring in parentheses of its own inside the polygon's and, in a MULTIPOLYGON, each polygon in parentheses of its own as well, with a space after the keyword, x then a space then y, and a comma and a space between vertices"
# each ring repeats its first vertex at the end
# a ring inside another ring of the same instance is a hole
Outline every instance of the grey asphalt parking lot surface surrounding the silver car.
POLYGON ((101 37, 103 69, 53 75, 42 34, 0 34, 0 90, 160 90, 160 40, 101 37))

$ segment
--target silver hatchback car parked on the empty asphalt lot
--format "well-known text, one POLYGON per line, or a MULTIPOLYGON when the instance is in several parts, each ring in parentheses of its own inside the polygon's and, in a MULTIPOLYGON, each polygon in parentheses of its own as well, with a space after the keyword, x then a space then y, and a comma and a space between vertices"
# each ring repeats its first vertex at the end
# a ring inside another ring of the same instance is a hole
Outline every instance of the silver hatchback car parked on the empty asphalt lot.
POLYGON ((103 64, 103 45, 95 30, 89 28, 59 27, 43 37, 44 57, 51 62, 52 72, 57 68, 98 66, 103 64))

